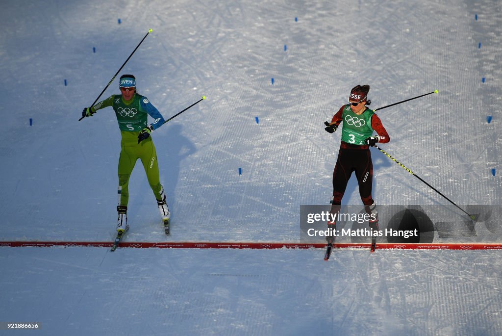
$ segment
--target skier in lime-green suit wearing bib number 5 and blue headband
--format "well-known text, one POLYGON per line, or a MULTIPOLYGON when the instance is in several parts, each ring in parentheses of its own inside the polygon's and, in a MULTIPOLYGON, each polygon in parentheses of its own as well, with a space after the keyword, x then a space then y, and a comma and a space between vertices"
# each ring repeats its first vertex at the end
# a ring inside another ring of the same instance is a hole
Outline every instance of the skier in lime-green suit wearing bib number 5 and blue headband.
POLYGON ((118 159, 118 220, 117 231, 123 232, 127 225, 127 205, 129 201, 129 178, 138 159, 147 173, 148 183, 157 199, 162 220, 169 220, 171 214, 166 203, 166 194, 160 184, 159 166, 155 146, 150 133, 164 124, 159 110, 147 97, 136 91, 136 78, 122 75, 120 93, 113 94, 90 108, 84 108, 82 117, 92 117, 98 109, 112 106, 120 129, 120 157, 118 159), (147 123, 148 115, 154 122, 147 123))

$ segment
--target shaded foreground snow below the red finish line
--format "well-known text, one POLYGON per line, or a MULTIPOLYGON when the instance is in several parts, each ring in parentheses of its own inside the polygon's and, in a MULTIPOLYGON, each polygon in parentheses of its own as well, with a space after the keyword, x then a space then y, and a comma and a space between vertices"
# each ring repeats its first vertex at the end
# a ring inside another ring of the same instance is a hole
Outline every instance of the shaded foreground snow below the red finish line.
POLYGON ((319 250, 3 248, 0 316, 41 322, 30 335, 502 330, 500 251, 333 254, 324 262, 319 250))

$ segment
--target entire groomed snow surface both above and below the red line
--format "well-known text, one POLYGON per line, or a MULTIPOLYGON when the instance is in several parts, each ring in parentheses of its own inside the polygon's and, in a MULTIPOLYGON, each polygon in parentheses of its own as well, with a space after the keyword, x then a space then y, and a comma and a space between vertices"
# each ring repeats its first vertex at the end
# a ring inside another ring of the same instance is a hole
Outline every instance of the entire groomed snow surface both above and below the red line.
MULTIPOLYGON (((391 137, 381 147, 459 205, 500 205, 501 10, 488 0, 5 0, 0 240, 113 239, 116 119, 111 108, 78 119, 150 28, 120 74, 135 74, 166 118, 207 99, 152 135, 172 235, 137 165, 128 241, 298 241, 300 205, 332 193, 340 133, 323 123, 359 83, 371 85, 372 108, 438 89, 378 111, 391 137)), ((378 204, 448 204, 372 156, 378 204)), ((360 204, 354 179, 343 202, 360 204)), ((497 251, 322 255, 3 247, 0 322, 39 321, 39 334, 502 333, 497 251)))

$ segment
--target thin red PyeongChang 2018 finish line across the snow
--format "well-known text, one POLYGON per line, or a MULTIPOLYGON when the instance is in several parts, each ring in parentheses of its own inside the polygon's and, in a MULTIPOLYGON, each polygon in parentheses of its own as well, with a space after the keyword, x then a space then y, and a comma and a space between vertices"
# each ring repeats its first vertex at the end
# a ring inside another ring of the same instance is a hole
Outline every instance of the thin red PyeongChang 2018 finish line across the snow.
MULTIPOLYGON (((111 242, 0 242, 0 247, 111 247, 111 242)), ((298 244, 298 243, 209 243, 209 242, 181 242, 181 243, 144 243, 123 242, 121 248, 158 248, 158 249, 311 249, 324 248, 326 244, 298 244)), ((334 248, 369 249, 370 244, 333 244, 334 248)), ((400 250, 502 250, 502 244, 376 244, 377 249, 400 250)))

